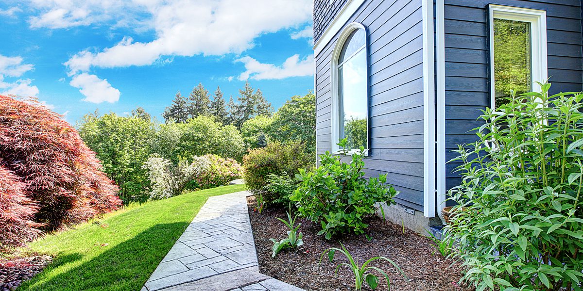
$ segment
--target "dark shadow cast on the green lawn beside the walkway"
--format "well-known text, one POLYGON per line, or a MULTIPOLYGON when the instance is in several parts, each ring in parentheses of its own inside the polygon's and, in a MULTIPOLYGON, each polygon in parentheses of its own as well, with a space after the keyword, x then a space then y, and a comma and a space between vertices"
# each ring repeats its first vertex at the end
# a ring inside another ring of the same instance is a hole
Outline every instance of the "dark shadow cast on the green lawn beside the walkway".
POLYGON ((96 244, 94 247, 110 249, 63 272, 59 268, 74 264, 83 255, 58 255, 19 290, 140 290, 188 224, 161 223, 113 247, 96 244))

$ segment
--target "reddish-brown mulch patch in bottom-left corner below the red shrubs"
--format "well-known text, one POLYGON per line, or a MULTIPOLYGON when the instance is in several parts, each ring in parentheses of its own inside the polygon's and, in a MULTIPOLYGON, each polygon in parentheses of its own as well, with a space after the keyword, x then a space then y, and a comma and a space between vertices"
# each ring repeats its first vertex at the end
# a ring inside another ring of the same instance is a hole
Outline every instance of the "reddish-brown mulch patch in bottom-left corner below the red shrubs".
POLYGON ((22 282, 43 271, 52 261, 48 255, 16 257, 0 261, 0 291, 16 290, 22 282))

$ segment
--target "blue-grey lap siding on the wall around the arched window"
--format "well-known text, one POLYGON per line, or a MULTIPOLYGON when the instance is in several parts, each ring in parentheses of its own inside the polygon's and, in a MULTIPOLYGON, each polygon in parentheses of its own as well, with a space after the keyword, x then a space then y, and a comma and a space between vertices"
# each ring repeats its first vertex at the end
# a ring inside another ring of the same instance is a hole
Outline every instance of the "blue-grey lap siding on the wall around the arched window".
MULTIPOLYGON (((318 2, 318 1, 316 1, 318 2)), ((315 8, 314 8, 315 9, 315 8)), ((370 147, 367 177, 387 174, 399 203, 423 211, 423 38, 420 0, 368 0, 347 23, 368 29, 370 147)), ((316 24, 314 24, 316 25, 316 24)), ((318 154, 331 150, 331 58, 316 56, 318 154)))

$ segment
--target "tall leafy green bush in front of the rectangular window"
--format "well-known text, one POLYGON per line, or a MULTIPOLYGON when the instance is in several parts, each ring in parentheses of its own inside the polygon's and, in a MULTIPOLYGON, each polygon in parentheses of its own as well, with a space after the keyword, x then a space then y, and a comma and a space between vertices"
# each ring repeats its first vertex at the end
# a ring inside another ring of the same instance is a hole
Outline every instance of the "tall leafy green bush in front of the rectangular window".
POLYGON ((486 109, 452 160, 462 184, 446 228, 477 290, 581 289, 583 94, 549 87, 486 109))

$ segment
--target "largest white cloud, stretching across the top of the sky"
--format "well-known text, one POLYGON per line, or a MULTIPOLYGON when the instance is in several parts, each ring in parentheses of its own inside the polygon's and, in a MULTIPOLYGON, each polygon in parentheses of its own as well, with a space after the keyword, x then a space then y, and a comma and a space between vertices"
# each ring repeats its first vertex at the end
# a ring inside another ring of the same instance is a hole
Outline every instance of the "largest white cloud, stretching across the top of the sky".
MULTIPOLYGON (((53 0, 47 13, 72 15, 78 6, 70 2, 53 0), (57 5, 61 2, 64 4, 57 5)), ((89 2, 97 3, 96 0, 89 2)), ((119 1, 106 2, 115 3, 112 5, 114 9, 110 10, 123 7, 119 1)), ((80 51, 65 62, 69 75, 88 72, 92 67, 152 65, 163 56, 240 54, 253 47, 253 40, 261 34, 296 27, 310 20, 312 13, 311 0, 134 0, 131 6, 127 9, 143 9, 150 16, 147 25, 155 31, 155 39, 139 42, 124 37, 113 47, 99 52, 80 51)), ((84 9, 91 17, 75 17, 66 23, 55 24, 42 19, 52 19, 45 13, 38 16, 40 18, 34 24, 31 22, 31 26, 71 27, 107 18, 99 14, 104 10, 101 4, 85 5, 84 9)), ((111 17, 118 14, 113 12, 111 17)), ((62 20, 61 16, 57 18, 62 20)))

